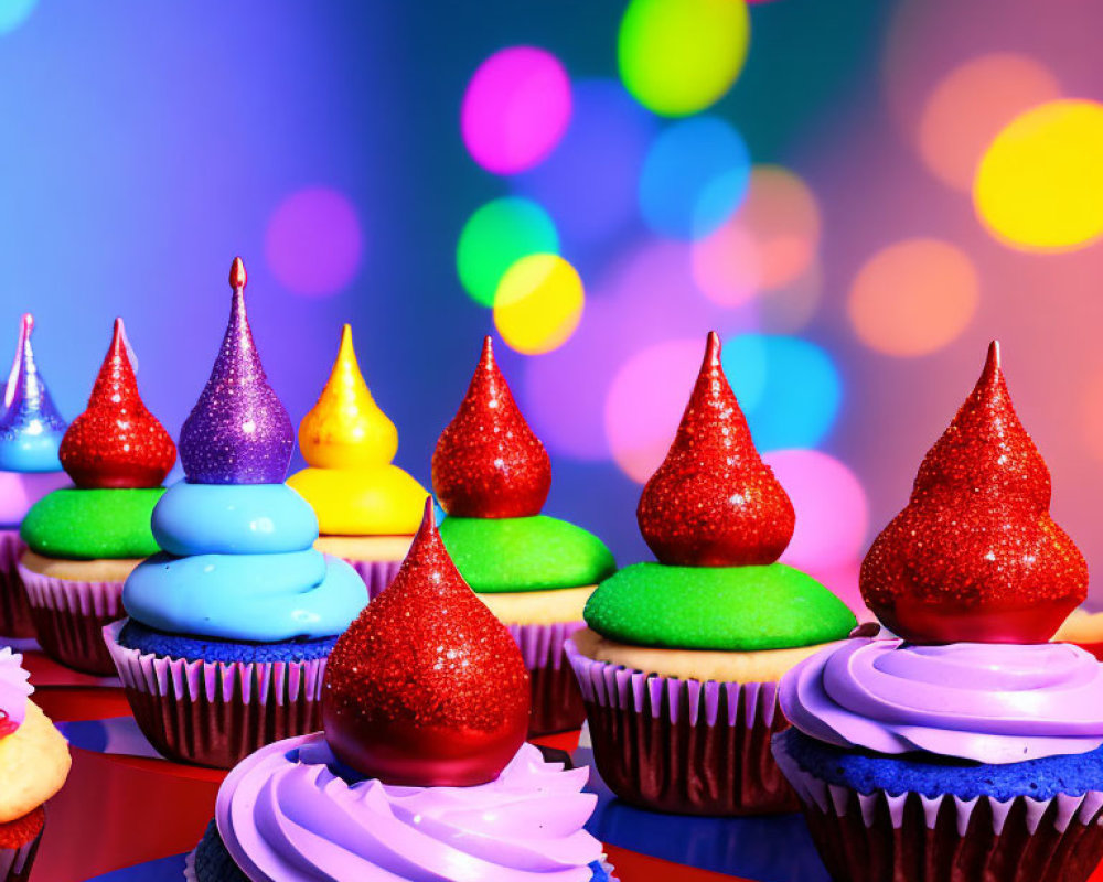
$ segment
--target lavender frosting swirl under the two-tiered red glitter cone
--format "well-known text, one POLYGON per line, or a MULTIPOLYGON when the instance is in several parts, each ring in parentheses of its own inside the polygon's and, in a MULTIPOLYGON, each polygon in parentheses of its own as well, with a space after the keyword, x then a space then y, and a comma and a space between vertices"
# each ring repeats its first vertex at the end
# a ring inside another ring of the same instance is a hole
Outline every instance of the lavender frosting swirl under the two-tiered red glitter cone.
POLYGON ((800 731, 840 747, 1005 764, 1103 745, 1103 666, 1071 644, 852 639, 781 681, 800 731))

